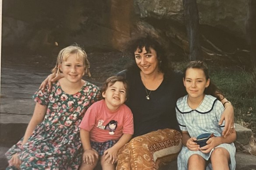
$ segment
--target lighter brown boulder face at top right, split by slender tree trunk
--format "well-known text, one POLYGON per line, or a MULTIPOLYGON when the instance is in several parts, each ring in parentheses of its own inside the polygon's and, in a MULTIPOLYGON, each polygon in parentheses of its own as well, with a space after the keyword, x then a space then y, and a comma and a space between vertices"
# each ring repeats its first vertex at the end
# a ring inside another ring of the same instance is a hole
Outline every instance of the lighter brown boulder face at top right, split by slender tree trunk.
MULTIPOLYGON (((249 0, 197 0, 200 24, 231 31, 245 38, 249 0)), ((135 0, 135 11, 142 18, 172 19, 184 22, 182 0, 135 0)))

